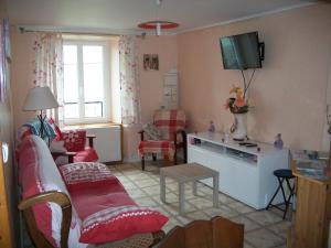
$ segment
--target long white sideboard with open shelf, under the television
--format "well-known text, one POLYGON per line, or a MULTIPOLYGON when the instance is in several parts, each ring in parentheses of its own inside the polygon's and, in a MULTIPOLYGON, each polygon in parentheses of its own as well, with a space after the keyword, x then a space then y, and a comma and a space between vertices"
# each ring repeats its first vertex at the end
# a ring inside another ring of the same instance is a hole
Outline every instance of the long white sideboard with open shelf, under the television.
MULTIPOLYGON (((271 144, 249 141, 257 147, 247 148, 239 142, 224 140, 217 132, 188 134, 188 162, 196 162, 220 172, 220 191, 256 208, 267 206, 278 181, 277 169, 288 169, 289 150, 271 144)), ((203 183, 212 185, 211 180, 203 183)), ((281 194, 274 204, 282 202, 281 194)))

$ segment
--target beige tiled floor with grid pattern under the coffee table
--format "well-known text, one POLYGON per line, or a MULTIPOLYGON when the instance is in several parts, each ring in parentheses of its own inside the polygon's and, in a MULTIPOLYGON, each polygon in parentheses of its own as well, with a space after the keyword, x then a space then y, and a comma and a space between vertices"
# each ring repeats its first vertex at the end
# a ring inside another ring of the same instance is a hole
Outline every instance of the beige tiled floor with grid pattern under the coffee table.
MULTIPOLYGON (((192 194, 191 184, 185 185, 185 215, 179 215, 178 183, 167 179, 167 204, 163 204, 160 201, 159 182, 161 163, 156 164, 147 164, 146 171, 141 171, 140 163, 109 165, 109 169, 121 181, 136 203, 154 207, 170 218, 163 228, 166 233, 175 225, 182 226, 194 219, 210 219, 221 215, 245 225, 244 248, 286 247, 290 222, 282 220, 281 212, 277 209, 255 211, 222 193, 218 197, 220 206, 215 208, 212 203, 212 190, 202 183, 197 185, 197 197, 192 194)), ((24 241, 26 244, 24 247, 33 248, 29 240, 24 241)))

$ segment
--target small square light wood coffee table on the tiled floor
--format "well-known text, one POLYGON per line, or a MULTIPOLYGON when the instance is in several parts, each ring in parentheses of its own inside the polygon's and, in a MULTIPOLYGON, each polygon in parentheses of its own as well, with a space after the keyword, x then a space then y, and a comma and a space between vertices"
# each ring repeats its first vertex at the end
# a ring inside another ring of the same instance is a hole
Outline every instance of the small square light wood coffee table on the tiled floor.
POLYGON ((193 194, 196 195, 196 182, 199 180, 213 177, 213 206, 218 206, 218 172, 197 163, 180 164, 160 169, 161 201, 166 203, 166 176, 179 183, 180 214, 185 208, 185 183, 193 182, 193 194))

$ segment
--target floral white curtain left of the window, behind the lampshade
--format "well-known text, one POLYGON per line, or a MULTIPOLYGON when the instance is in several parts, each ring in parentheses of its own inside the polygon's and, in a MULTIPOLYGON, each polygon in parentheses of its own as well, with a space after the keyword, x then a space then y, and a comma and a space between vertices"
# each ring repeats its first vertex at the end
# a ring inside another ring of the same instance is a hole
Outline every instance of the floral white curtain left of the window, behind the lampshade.
MULTIPOLYGON (((63 106, 63 40, 61 33, 35 33, 33 43, 33 87, 49 86, 63 106)), ((47 110, 63 126, 63 107, 47 110)))

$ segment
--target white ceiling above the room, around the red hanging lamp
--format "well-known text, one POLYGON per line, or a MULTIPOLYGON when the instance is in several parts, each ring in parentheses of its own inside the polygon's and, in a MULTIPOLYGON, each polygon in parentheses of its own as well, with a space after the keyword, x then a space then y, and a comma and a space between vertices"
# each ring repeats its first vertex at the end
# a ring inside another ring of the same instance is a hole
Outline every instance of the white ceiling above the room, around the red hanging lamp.
POLYGON ((310 4, 309 0, 6 0, 12 24, 40 30, 141 33, 138 23, 180 23, 172 33, 310 4))

